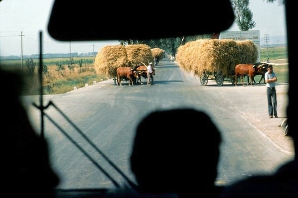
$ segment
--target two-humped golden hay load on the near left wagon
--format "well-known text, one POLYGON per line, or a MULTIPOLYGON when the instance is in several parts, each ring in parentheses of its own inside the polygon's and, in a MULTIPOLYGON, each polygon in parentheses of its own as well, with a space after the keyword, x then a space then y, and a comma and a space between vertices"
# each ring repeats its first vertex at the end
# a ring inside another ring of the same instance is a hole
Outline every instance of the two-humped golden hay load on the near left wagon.
MULTIPOLYGON (((107 79, 113 78, 116 84, 117 68, 135 68, 140 63, 149 64, 149 62, 153 62, 153 57, 148 45, 108 45, 98 51, 94 67, 97 74, 106 75, 107 79)), ((120 80, 128 81, 126 78, 120 80)))

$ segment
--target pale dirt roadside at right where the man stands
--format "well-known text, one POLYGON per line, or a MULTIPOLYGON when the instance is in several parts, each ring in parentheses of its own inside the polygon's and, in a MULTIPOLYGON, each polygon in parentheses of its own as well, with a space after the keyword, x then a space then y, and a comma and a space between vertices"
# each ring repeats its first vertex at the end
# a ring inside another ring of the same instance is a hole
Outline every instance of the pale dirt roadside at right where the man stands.
MULTIPOLYGON (((270 60, 270 64, 287 64, 288 59, 270 60)), ((228 83, 224 83, 225 85, 228 83)), ((208 85, 217 85, 214 80, 208 81, 208 85)), ((221 87, 221 89, 224 89, 221 87)), ((269 118, 268 104, 266 96, 266 86, 264 84, 252 86, 237 86, 233 87, 233 92, 245 92, 245 97, 248 99, 247 104, 239 106, 242 116, 245 117, 253 126, 259 129, 259 132, 265 138, 272 141, 281 151, 294 155, 294 143, 292 137, 284 135, 284 128, 281 123, 287 118, 288 106, 288 90, 289 83, 277 82, 277 113, 278 118, 269 118)), ((237 101, 235 101, 237 103, 237 101)))

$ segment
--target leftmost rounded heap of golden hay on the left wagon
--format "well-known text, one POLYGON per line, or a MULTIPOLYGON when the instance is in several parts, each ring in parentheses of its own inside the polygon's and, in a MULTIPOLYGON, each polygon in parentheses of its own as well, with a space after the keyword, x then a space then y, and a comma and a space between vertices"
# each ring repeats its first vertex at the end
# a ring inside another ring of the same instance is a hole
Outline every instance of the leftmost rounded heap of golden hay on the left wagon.
POLYGON ((94 61, 97 74, 106 75, 107 78, 115 77, 118 67, 128 66, 128 57, 124 45, 107 45, 102 47, 94 61))

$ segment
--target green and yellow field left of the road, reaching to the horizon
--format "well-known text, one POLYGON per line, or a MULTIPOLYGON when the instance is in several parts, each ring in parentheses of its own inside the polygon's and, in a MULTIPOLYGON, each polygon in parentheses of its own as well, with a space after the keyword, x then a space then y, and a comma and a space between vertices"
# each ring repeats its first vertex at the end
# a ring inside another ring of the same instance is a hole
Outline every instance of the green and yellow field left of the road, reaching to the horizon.
MULTIPOLYGON (((39 95, 40 83, 38 77, 38 66, 34 73, 30 73, 26 60, 5 60, 1 62, 2 68, 8 71, 21 73, 24 78, 24 95, 39 95)), ((33 60, 38 65, 39 60, 33 60)), ((69 67, 70 60, 67 58, 44 59, 43 65, 46 71, 43 72, 43 91, 44 95, 62 94, 91 85, 93 82, 100 82, 107 77, 96 74, 93 64, 93 57, 76 57, 72 60, 72 67, 69 67), (80 64, 81 63, 81 64, 80 64)))

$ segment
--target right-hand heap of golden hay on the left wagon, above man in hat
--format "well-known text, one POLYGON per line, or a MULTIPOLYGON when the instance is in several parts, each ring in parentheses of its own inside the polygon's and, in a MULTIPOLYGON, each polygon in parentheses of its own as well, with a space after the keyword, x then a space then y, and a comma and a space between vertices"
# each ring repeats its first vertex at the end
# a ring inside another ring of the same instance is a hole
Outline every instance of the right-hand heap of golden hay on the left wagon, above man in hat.
POLYGON ((153 63, 153 56, 148 45, 127 45, 125 48, 128 62, 131 67, 134 68, 136 66, 139 66, 140 64, 142 64, 142 62, 146 65, 149 65, 150 62, 153 63))

